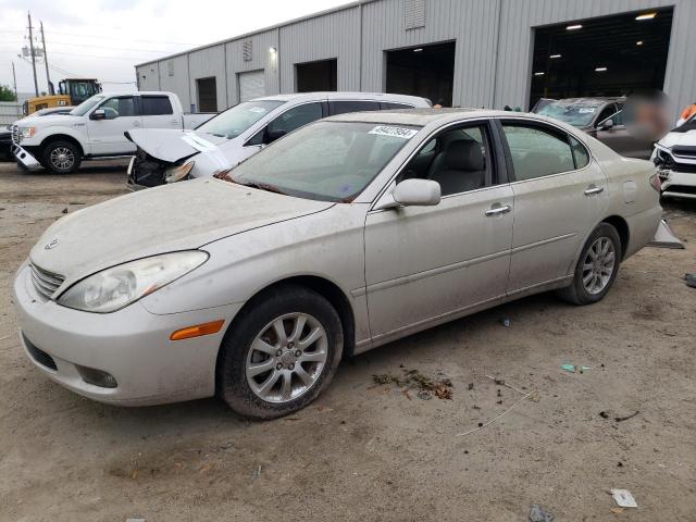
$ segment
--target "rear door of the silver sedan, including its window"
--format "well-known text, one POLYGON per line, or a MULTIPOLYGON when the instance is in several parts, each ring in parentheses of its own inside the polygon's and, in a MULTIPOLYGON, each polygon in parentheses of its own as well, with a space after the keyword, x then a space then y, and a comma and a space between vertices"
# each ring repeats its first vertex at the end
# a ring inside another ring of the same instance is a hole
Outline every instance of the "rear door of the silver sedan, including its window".
POLYGON ((502 120, 514 192, 508 294, 563 279, 607 206, 607 178, 563 129, 502 120))

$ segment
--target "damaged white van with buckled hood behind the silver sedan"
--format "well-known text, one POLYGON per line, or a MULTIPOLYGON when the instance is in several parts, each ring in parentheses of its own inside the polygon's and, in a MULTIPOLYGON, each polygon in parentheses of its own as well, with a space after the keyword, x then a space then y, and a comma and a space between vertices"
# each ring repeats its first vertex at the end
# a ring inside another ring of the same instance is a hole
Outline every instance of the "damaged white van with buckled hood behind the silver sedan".
POLYGON ((241 102, 196 130, 130 129, 137 146, 128 187, 139 189, 229 170, 308 123, 348 112, 430 108, 425 98, 384 92, 306 92, 241 102))

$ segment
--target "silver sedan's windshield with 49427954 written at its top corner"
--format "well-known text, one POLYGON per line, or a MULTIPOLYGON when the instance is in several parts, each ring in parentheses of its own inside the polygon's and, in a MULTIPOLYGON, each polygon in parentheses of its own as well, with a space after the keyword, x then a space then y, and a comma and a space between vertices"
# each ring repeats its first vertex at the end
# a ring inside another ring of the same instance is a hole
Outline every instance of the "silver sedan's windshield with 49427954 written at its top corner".
POLYGON ((290 196, 351 201, 420 127, 316 122, 249 158, 232 181, 290 196))

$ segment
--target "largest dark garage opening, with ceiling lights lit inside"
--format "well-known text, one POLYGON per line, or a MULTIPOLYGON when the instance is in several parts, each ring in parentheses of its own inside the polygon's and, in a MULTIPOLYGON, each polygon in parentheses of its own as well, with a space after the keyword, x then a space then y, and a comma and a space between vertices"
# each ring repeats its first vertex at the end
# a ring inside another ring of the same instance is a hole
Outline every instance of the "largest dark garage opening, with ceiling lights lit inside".
POLYGON ((671 30, 672 8, 536 28, 530 108, 539 98, 662 89, 671 30))

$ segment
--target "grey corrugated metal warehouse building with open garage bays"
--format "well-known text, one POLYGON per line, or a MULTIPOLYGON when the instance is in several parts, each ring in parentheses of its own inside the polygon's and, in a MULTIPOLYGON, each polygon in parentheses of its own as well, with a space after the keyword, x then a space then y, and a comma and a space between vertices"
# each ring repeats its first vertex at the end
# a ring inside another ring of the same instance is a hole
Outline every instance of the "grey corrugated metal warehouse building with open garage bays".
POLYGON ((388 91, 446 105, 662 89, 696 101, 696 0, 363 0, 136 66, 191 111, 388 91))

